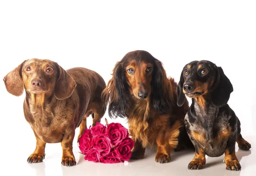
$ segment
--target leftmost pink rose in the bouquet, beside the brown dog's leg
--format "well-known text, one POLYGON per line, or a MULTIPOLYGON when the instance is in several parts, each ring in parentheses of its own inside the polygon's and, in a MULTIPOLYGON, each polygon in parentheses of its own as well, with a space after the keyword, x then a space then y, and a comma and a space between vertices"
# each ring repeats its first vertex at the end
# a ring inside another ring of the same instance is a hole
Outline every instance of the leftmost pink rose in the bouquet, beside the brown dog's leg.
POLYGON ((91 148, 91 134, 90 130, 86 128, 84 131, 84 134, 79 138, 79 149, 81 150, 81 153, 86 153, 91 148))

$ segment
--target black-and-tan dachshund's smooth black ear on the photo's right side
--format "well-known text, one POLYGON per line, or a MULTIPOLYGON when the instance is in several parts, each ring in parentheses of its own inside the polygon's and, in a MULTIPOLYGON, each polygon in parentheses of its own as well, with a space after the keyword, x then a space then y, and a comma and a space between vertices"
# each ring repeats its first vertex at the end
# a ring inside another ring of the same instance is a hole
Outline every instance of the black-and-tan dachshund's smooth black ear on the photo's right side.
POLYGON ((221 67, 217 67, 215 88, 212 91, 212 104, 216 107, 222 107, 227 104, 230 94, 233 92, 233 85, 224 74, 221 67))

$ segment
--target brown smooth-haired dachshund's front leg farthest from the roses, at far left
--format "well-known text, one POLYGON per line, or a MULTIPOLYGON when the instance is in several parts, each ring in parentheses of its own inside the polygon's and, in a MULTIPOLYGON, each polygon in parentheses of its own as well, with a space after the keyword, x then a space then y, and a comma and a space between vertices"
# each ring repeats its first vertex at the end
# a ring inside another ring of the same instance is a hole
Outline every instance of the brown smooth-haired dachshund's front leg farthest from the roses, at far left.
POLYGON ((36 147, 35 147, 35 151, 27 159, 27 162, 29 163, 42 162, 45 156, 44 149, 45 149, 46 143, 42 139, 40 139, 35 132, 34 134, 36 138, 36 147))

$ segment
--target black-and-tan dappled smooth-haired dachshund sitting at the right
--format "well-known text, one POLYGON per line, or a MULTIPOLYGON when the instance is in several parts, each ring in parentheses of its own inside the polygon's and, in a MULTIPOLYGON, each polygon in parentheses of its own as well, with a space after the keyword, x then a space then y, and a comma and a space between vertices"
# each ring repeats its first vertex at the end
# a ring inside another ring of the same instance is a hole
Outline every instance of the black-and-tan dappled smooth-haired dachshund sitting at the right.
POLYGON ((195 157, 188 168, 202 169, 205 155, 218 157, 225 153, 226 169, 240 170, 236 142, 241 150, 249 150, 251 145, 243 139, 240 121, 227 104, 233 85, 222 68, 207 60, 188 63, 181 72, 177 92, 179 106, 185 102, 185 95, 192 98, 185 125, 195 146, 195 157))

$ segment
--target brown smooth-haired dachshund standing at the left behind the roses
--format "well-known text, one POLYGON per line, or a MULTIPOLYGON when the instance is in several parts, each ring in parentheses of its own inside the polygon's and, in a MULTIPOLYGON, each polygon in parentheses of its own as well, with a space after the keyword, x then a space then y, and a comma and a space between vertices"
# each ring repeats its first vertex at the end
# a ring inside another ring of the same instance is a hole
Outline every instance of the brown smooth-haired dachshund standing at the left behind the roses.
POLYGON ((35 151, 27 162, 42 162, 46 143, 61 142, 61 164, 76 165, 75 129, 80 126, 79 139, 87 128, 86 117, 92 114, 95 126, 106 111, 101 99, 106 87, 102 77, 87 68, 65 71, 57 62, 34 58, 22 62, 3 81, 14 96, 26 92, 23 112, 36 138, 35 151))

